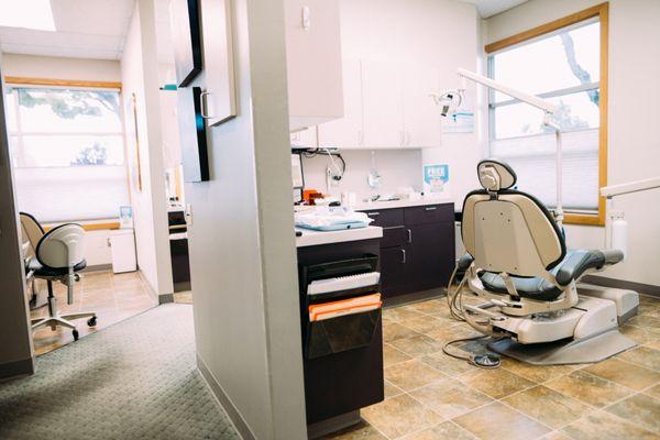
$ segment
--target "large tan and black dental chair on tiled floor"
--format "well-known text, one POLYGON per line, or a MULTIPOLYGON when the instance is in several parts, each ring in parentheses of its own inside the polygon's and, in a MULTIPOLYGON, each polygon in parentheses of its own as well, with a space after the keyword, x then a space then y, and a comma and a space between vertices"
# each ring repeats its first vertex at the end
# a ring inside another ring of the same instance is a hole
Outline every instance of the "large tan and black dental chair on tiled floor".
POLYGON ((477 173, 483 189, 465 197, 468 253, 458 264, 466 284, 459 295, 477 302, 460 298, 459 308, 470 326, 494 339, 488 349, 551 365, 598 362, 635 346, 618 326, 636 315, 637 293, 578 285, 581 276, 620 262, 623 253, 566 250, 546 207, 512 189, 510 166, 485 160, 477 173))

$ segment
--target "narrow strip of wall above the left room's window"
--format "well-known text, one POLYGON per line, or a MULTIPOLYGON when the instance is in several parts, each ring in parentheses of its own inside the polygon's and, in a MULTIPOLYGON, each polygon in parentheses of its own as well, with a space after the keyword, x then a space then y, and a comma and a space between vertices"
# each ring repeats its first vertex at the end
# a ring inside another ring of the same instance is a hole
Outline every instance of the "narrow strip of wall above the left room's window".
POLYGON ((2 64, 6 76, 121 81, 121 66, 118 61, 113 59, 4 54, 2 64))

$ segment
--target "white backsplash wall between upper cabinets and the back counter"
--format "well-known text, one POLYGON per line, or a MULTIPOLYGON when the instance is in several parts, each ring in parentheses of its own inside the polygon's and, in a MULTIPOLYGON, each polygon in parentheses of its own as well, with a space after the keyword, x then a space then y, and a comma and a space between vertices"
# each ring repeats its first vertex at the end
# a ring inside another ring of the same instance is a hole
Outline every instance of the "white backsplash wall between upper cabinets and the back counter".
MULTIPOLYGON (((329 189, 326 184, 326 168, 331 166, 327 155, 302 157, 305 187, 321 193, 339 196, 344 191, 353 191, 359 198, 376 194, 395 194, 399 187, 413 187, 421 190, 421 150, 381 150, 375 151, 376 169, 381 174, 381 187, 372 189, 366 183, 366 176, 372 168, 372 152, 350 150, 341 152, 346 162, 346 172, 337 186, 329 189)), ((334 157, 340 166, 340 162, 334 157)), ((334 169, 332 167, 332 169, 334 169)))

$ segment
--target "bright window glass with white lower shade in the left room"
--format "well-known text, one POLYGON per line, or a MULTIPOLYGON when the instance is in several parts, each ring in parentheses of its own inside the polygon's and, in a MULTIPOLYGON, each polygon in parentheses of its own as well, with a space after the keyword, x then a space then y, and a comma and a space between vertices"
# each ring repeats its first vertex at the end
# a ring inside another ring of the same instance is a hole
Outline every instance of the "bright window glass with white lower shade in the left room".
POLYGON ((12 85, 6 113, 21 211, 81 221, 129 205, 119 89, 12 85))

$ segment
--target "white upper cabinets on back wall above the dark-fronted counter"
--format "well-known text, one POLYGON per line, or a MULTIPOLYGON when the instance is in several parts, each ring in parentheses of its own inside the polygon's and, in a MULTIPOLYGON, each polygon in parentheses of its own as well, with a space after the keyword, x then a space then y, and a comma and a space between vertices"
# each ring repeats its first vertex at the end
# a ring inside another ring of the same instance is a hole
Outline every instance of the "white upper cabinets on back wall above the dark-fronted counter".
POLYGON ((344 117, 318 127, 319 146, 421 148, 440 146, 436 67, 343 61, 344 117))

